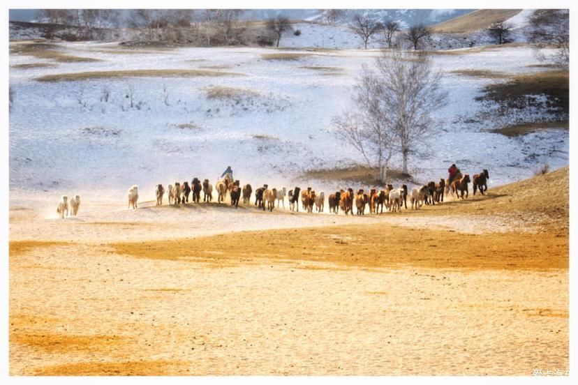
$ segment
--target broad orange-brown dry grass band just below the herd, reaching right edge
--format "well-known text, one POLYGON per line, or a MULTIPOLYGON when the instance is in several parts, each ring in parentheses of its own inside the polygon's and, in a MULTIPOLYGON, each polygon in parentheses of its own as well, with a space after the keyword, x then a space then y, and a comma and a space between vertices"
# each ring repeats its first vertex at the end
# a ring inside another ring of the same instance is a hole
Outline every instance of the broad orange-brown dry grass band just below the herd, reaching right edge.
POLYGON ((350 225, 283 229, 268 234, 267 238, 262 232, 244 232, 110 246, 120 255, 191 262, 207 260, 214 266, 272 259, 369 268, 568 269, 568 238, 551 233, 539 237, 514 233, 478 235, 392 225, 350 225))

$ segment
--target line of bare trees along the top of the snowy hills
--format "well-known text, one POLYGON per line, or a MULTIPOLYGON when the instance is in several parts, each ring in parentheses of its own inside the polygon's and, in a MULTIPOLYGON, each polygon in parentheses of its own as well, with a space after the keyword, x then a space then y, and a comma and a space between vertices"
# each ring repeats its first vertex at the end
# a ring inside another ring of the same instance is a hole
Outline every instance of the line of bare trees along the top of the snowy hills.
MULTIPOLYGON (((258 43, 276 45, 281 38, 293 32, 292 22, 283 15, 262 22, 244 20, 242 9, 43 9, 38 19, 51 24, 75 27, 76 37, 83 40, 103 40, 110 36, 110 29, 126 27, 131 37, 147 42, 172 41, 193 43, 211 47, 213 45, 239 45, 258 43)), ((346 21, 346 10, 319 10, 320 20, 327 24, 346 21)), ((542 59, 568 67, 570 52, 568 10, 536 10, 528 18, 527 39, 542 53, 542 59), (545 47, 554 47, 554 54, 545 52, 545 47)), ((357 35, 365 48, 370 40, 379 38, 388 48, 394 46, 423 50, 427 47, 434 31, 425 24, 416 24, 403 29, 396 20, 375 20, 361 13, 348 22, 348 27, 357 35)), ((490 24, 486 33, 494 43, 512 41, 514 26, 506 20, 490 24)), ((295 31, 298 35, 300 31, 295 31)))

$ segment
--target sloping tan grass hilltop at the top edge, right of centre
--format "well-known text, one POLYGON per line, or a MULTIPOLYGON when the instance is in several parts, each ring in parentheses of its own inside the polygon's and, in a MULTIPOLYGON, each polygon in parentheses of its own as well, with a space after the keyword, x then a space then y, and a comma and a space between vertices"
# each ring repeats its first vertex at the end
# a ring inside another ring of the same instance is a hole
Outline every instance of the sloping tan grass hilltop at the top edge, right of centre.
POLYGON ((466 33, 486 29, 490 24, 509 19, 521 9, 479 9, 434 25, 435 33, 466 33))

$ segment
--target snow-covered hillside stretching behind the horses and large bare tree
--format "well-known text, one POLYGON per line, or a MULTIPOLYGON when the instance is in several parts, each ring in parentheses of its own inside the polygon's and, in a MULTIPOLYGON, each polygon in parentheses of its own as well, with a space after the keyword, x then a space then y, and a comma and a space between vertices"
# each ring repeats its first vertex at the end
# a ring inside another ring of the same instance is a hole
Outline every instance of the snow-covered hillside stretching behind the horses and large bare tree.
MULTIPOLYGON (((58 45, 60 52, 99 61, 16 68, 49 60, 10 55, 10 87, 15 92, 10 112, 13 198, 74 192, 124 199, 126 188, 138 184, 142 198, 150 199, 156 183, 191 181, 193 176, 215 181, 228 165, 235 178, 253 186, 311 183, 331 191, 339 182, 304 180, 299 174, 359 160, 336 139, 331 121, 350 106, 355 78, 377 51, 138 51, 104 43, 58 45), (37 80, 85 71, 170 69, 200 73, 37 80)), ((489 133, 496 127, 488 122, 467 123, 480 111, 475 97, 481 87, 496 80, 453 73, 544 70, 532 67, 537 63, 528 47, 436 55, 436 67, 446 73, 442 85, 450 100, 437 112, 443 131, 422 143, 427 155, 410 158, 415 179, 437 180, 448 165, 457 163, 470 173, 489 169, 491 185, 496 186, 531 176, 544 163, 568 164, 568 131, 510 138, 489 133)))

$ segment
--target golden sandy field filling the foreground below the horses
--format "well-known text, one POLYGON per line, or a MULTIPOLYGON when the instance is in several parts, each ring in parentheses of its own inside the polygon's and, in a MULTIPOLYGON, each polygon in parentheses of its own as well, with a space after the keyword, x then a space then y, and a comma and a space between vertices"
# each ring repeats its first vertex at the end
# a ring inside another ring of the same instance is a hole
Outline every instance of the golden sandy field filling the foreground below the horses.
POLYGON ((366 218, 11 204, 10 375, 566 370, 568 167, 488 193, 366 218))

